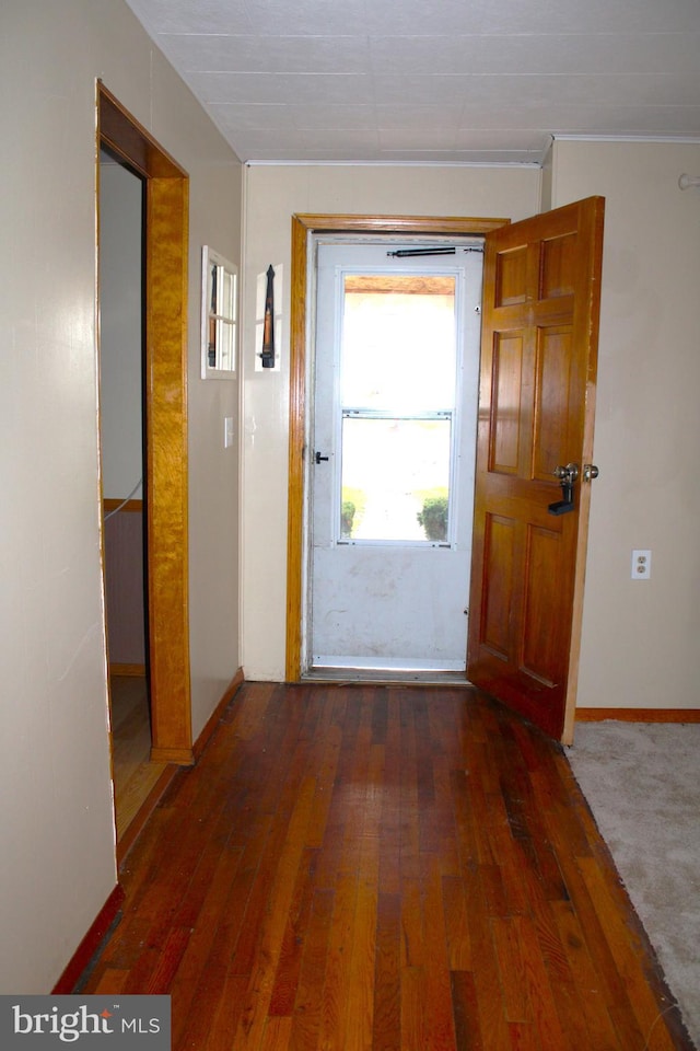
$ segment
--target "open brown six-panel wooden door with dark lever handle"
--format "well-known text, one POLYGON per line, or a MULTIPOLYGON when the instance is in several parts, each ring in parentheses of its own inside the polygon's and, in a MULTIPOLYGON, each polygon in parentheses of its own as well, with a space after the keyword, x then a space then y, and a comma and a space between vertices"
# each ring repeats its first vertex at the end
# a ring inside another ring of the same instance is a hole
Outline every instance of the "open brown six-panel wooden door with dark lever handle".
POLYGON ((596 473, 604 205, 486 239, 467 675, 564 741, 596 473))

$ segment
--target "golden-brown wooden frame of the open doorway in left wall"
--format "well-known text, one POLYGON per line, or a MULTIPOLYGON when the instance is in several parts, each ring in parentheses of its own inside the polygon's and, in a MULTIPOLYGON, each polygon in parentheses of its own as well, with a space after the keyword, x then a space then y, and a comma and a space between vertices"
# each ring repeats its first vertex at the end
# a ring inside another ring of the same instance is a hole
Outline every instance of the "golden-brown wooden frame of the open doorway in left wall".
POLYGON ((96 163, 104 145, 145 183, 144 488, 151 760, 189 765, 194 762, 187 531, 189 177, 101 81, 96 108, 96 163))

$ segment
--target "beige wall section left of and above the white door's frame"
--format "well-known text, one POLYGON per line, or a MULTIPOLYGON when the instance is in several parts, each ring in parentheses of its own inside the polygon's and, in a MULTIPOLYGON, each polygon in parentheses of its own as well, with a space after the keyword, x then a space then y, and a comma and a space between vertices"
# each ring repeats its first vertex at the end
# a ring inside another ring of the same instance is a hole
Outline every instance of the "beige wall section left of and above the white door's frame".
POLYGON ((524 168, 368 165, 246 169, 243 662, 249 679, 284 678, 289 426, 289 264, 294 212, 481 216, 538 211, 540 173, 524 168), (255 287, 284 267, 279 372, 255 372, 255 287))

